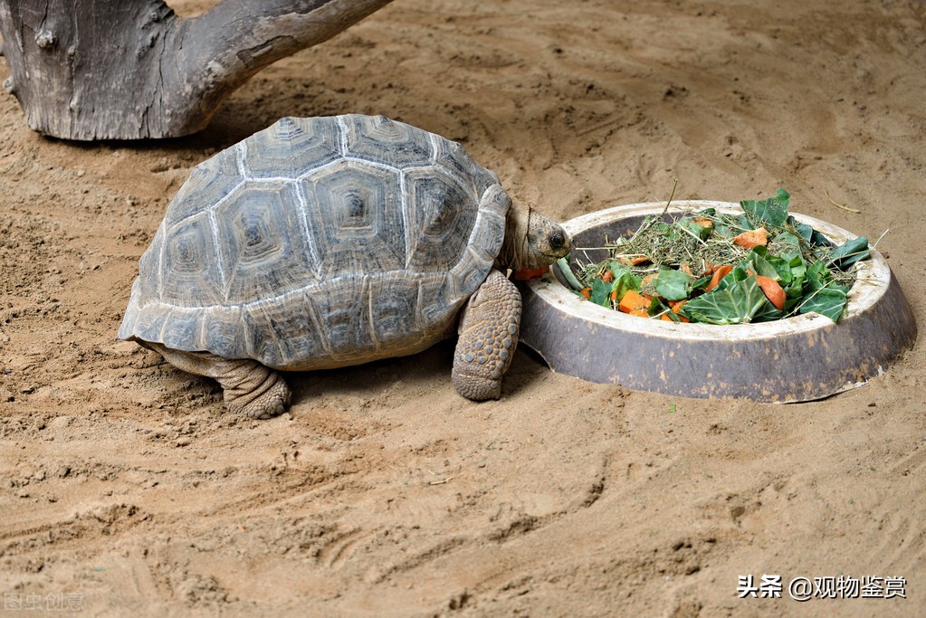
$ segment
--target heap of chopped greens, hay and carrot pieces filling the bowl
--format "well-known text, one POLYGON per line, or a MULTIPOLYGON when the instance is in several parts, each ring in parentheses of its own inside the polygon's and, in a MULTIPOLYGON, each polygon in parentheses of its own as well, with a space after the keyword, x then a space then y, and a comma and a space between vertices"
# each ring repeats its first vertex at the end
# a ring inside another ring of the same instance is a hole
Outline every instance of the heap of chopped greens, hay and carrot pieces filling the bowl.
POLYGON ((836 322, 858 260, 870 256, 868 239, 833 246, 788 214, 790 198, 779 189, 767 200, 744 200, 738 215, 706 208, 647 216, 578 276, 566 259, 557 266, 577 293, 630 315, 745 324, 816 312, 836 322))

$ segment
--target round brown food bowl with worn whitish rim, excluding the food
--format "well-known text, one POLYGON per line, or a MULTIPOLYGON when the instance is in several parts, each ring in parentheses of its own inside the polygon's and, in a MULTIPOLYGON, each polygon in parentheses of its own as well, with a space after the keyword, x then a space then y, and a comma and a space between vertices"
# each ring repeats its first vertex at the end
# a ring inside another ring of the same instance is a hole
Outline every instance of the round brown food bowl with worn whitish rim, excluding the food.
MULTIPOLYGON (((666 217, 716 208, 742 213, 739 204, 673 203, 666 217)), ((604 239, 639 228, 663 204, 631 204, 579 216, 564 224, 573 256, 607 257, 604 239)), ((811 216, 796 220, 842 244, 857 238, 811 216)), ((774 322, 715 326, 680 324, 621 314, 574 294, 557 266, 543 278, 519 284, 524 299, 520 340, 550 368, 592 382, 692 397, 757 402, 807 402, 880 376, 913 345, 917 328, 907 299, 881 253, 857 262, 857 279, 838 323, 824 315, 774 322)))

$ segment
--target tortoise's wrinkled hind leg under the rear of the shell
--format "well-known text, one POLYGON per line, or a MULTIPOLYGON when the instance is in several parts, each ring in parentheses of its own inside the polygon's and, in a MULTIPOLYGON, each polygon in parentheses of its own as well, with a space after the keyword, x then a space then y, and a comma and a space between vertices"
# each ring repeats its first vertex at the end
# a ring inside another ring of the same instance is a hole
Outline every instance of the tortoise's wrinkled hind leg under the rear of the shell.
POLYGON ((219 382, 229 411, 270 418, 289 407, 292 393, 280 374, 250 359, 228 359, 209 352, 181 352, 144 341, 170 364, 187 373, 219 382))

